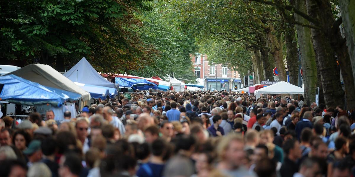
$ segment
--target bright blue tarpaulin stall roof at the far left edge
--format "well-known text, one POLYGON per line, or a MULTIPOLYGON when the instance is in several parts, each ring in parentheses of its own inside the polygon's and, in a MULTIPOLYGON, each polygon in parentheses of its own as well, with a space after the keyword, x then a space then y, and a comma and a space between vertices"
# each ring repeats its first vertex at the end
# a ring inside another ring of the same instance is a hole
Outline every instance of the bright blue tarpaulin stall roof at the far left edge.
MULTIPOLYGON (((13 74, 1 76, 0 84, 4 84, 0 90, 1 100, 11 103, 24 105, 51 104, 59 107, 66 100, 43 85, 13 74)), ((69 99, 68 96, 65 97, 69 99)))

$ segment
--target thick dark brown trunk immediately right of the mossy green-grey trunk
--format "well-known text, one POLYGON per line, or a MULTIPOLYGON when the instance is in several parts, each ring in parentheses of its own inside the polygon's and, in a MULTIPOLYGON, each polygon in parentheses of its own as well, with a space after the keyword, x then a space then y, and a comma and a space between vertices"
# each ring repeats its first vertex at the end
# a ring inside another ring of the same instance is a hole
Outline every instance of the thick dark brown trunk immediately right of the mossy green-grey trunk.
MULTIPOLYGON (((324 21, 324 10, 315 0, 306 0, 308 16, 320 22, 324 29, 329 24, 324 21)), ((315 25, 310 23, 311 25, 315 25)), ((327 39, 327 35, 318 29, 311 29, 313 48, 316 53, 316 62, 321 74, 324 100, 327 107, 344 105, 344 91, 340 84, 337 63, 334 59, 334 51, 327 39)))

